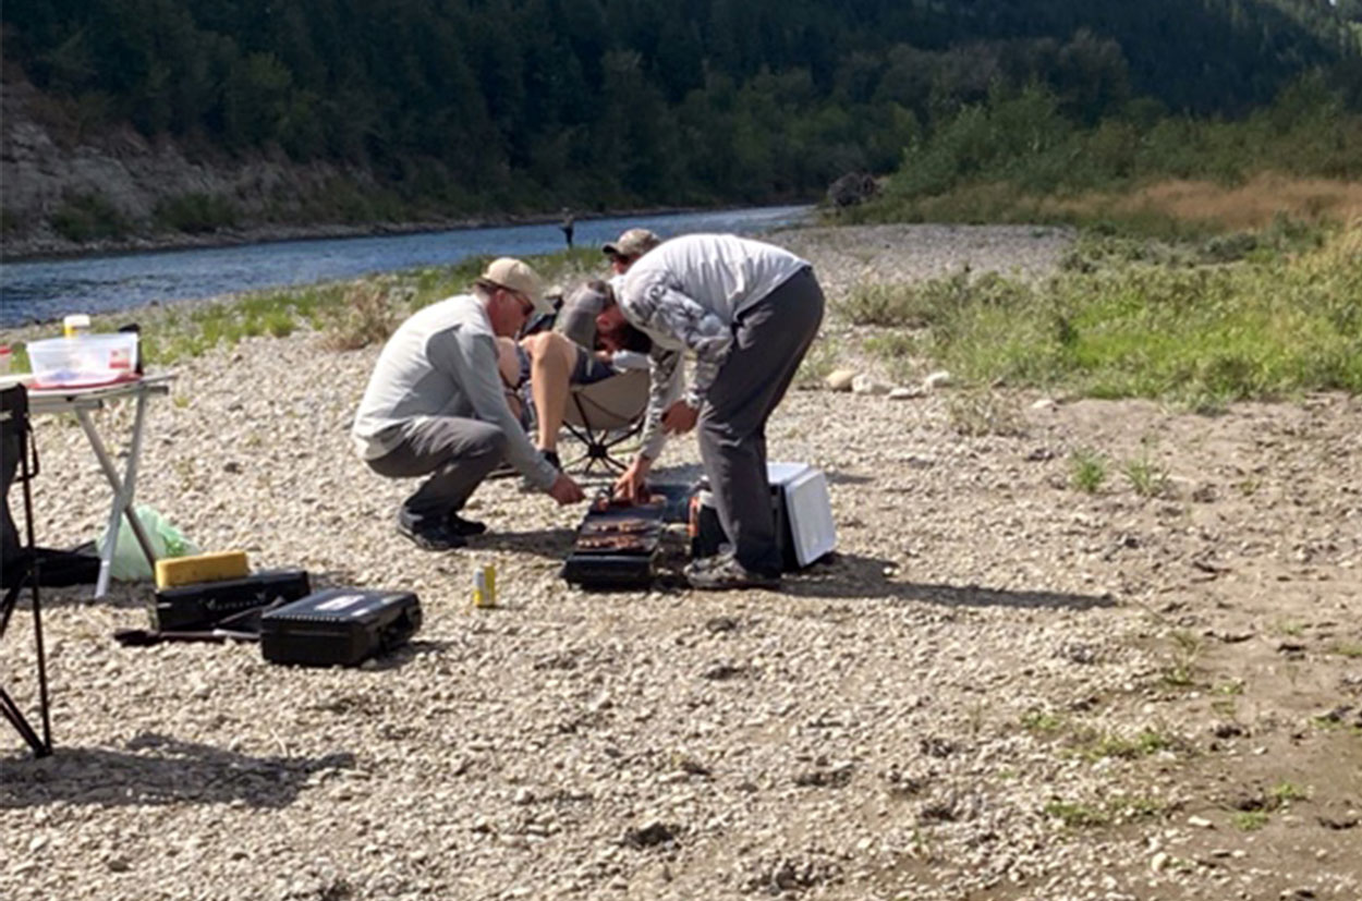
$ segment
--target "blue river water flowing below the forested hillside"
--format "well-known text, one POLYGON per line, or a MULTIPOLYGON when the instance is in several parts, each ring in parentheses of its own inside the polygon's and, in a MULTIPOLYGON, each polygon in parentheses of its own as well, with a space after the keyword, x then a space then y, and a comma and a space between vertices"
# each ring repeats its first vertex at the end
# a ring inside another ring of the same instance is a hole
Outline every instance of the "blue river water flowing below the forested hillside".
MULTIPOLYGON (((759 234, 797 225, 810 215, 812 207, 757 207, 580 219, 573 242, 601 246, 622 230, 639 226, 663 238, 697 231, 759 234)), ((165 304, 447 265, 477 255, 533 256, 563 246, 563 231, 549 222, 5 263, 0 265, 0 327, 59 320, 67 313, 110 313, 153 301, 165 304)))

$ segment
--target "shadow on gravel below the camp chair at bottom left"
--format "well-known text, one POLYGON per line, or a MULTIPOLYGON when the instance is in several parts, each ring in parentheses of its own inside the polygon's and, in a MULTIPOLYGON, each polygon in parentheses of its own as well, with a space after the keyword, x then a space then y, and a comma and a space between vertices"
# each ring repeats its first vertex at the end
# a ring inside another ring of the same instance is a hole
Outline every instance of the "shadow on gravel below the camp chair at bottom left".
POLYGON ((128 751, 59 744, 44 759, 0 761, 0 810, 52 803, 286 807, 313 773, 354 762, 347 751, 251 757, 144 732, 128 742, 128 751))

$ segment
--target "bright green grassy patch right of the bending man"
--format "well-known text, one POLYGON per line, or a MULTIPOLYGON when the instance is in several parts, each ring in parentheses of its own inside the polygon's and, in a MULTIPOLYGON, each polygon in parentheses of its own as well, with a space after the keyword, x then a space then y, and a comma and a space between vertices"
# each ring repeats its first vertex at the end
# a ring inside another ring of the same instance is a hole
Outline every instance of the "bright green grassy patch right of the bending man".
POLYGON ((1090 234, 1043 283, 862 284, 840 314, 876 327, 891 370, 929 359, 978 384, 1197 408, 1362 393, 1362 219, 1200 245, 1090 234))

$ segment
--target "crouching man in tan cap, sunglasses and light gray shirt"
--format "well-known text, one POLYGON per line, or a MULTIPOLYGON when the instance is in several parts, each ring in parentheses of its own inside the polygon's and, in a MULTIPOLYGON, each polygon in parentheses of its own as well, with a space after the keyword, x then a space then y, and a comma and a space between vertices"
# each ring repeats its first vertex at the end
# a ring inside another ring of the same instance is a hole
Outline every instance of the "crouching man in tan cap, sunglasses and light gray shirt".
POLYGON ((398 512, 398 531, 425 550, 462 547, 482 532, 459 510, 501 461, 558 504, 582 489, 535 450, 507 406, 497 338, 543 312, 538 275, 520 260, 493 261, 459 294, 403 323, 379 355, 355 412, 355 450, 379 475, 429 475, 398 512))

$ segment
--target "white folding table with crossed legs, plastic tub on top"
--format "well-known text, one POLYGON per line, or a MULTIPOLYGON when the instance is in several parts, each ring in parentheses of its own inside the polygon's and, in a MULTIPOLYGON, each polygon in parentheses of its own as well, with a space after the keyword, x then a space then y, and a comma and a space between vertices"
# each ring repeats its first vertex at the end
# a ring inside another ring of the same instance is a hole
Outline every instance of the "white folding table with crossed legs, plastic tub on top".
MULTIPOLYGON (((93 388, 29 388, 30 415, 57 412, 74 412, 76 415, 80 427, 86 433, 86 438, 90 441, 94 456, 99 460, 104 478, 109 480, 109 487, 113 489, 113 506, 109 509, 109 529, 104 540, 104 547, 99 548, 99 578, 94 587, 95 597, 104 597, 109 592, 109 568, 113 563, 113 553, 118 547, 120 513, 127 513, 128 524, 132 525, 132 534, 136 536, 138 544, 142 546, 142 553, 146 554, 147 562, 155 568, 155 551, 151 548, 151 542, 147 539, 142 521, 133 510, 132 499, 138 485, 138 460, 142 456, 142 437, 146 431, 147 399, 169 395, 173 380, 174 373, 161 373, 93 388), (90 411, 101 410, 112 400, 128 397, 135 399, 138 407, 132 418, 132 441, 128 445, 128 461, 120 474, 113 463, 113 457, 109 456, 104 440, 99 437, 99 431, 94 427, 90 411)), ((3 381, 12 384, 15 381, 27 381, 27 378, 10 376, 3 381)))

